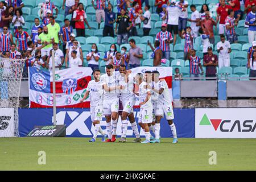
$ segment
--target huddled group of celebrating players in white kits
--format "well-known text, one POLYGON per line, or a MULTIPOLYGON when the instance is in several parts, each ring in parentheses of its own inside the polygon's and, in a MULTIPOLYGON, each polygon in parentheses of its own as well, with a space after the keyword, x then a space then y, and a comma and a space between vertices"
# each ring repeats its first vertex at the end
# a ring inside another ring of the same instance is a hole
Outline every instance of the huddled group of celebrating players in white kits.
POLYGON ((119 71, 115 71, 113 65, 109 64, 106 66, 106 73, 102 76, 100 70, 94 70, 94 80, 89 81, 87 91, 81 100, 84 102, 88 96, 90 97, 90 115, 94 133, 89 142, 96 142, 98 133, 102 135, 102 142, 115 142, 119 116, 122 120, 122 136, 119 142, 126 142, 127 118, 136 136, 133 142, 141 142, 133 113, 137 95, 141 106, 138 123, 146 137, 141 143, 160 143, 160 120, 164 115, 174 136, 172 143, 177 143, 170 92, 167 82, 159 79, 159 75, 158 71, 133 73, 131 70, 126 70, 125 65, 121 65, 119 71), (106 118, 107 134, 102 131, 100 125, 103 115, 106 118))

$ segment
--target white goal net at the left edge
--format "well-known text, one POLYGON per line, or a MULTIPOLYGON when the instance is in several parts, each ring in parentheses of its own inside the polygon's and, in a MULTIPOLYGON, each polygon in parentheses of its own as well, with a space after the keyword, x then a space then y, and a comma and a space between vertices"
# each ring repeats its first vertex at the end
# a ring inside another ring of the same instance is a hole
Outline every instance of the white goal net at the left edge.
POLYGON ((19 92, 24 59, 0 58, 0 137, 19 137, 19 92))

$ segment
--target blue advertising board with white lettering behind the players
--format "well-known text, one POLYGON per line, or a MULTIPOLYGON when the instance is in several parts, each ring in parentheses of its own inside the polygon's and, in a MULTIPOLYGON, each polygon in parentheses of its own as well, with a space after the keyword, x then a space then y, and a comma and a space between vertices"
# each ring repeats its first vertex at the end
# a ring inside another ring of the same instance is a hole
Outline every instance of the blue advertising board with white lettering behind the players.
MULTIPOLYGON (((174 109, 175 125, 178 137, 195 138, 195 109, 174 109)), ((139 109, 134 110, 134 116, 138 122, 139 109)), ((57 109, 57 125, 66 125, 67 137, 92 137, 94 126, 90 119, 89 109, 57 109)), ((106 122, 101 122, 101 127, 106 130, 106 122)), ((27 136, 34 126, 52 125, 52 109, 19 109, 19 134, 27 136)), ((138 126, 141 136, 143 130, 138 126)), ((119 118, 117 135, 122 133, 122 122, 119 118)), ((161 121, 160 135, 162 138, 172 137, 170 126, 165 118, 161 121)), ((128 125, 127 137, 135 137, 128 125)))

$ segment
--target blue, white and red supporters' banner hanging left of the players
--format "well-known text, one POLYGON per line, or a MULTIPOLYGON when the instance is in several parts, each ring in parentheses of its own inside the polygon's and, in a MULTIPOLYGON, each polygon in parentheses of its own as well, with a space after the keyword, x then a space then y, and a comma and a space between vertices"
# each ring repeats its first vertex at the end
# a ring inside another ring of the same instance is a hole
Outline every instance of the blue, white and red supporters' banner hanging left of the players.
MULTIPOLYGON (((82 103, 80 100, 84 97, 91 75, 92 69, 83 67, 56 71, 56 106, 89 107, 88 98, 82 103)), ((30 67, 28 79, 30 108, 52 107, 52 72, 30 67)))

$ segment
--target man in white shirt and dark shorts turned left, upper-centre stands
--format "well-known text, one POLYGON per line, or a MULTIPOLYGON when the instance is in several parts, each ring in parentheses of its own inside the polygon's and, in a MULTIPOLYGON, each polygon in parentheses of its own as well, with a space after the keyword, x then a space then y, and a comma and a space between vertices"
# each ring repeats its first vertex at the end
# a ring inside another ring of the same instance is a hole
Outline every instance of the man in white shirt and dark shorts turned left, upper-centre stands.
POLYGON ((139 15, 139 18, 143 21, 143 36, 148 36, 151 30, 151 13, 150 13, 150 5, 146 5, 144 7, 145 13, 139 15))

